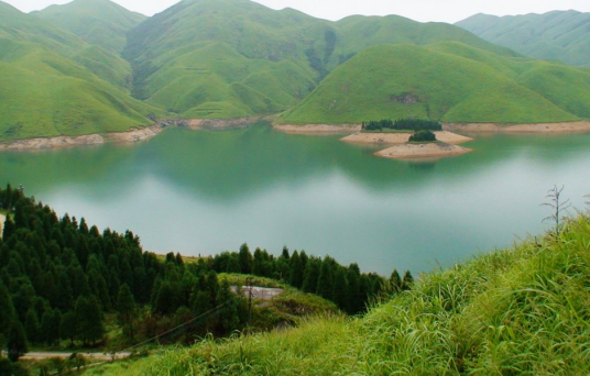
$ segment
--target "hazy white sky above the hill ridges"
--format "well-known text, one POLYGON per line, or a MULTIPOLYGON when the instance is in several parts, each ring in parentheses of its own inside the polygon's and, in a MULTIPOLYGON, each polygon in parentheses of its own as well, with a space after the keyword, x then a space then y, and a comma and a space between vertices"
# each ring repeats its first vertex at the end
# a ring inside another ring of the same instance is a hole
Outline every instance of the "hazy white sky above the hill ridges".
MULTIPOLYGON (((0 0, 23 12, 40 10, 70 0, 0 0)), ((124 8, 146 15, 161 12, 178 0, 112 0, 124 8)), ((545 13, 551 10, 573 9, 590 12, 590 0, 256 0, 273 9, 286 7, 304 13, 339 20, 350 14, 398 14, 416 21, 454 23, 476 13, 495 15, 545 13)))

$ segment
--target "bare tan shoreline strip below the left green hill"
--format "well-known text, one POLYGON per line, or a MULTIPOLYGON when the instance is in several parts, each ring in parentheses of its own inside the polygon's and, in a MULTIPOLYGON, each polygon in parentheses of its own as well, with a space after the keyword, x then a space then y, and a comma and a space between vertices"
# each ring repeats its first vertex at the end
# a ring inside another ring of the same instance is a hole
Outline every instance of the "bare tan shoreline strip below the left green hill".
POLYGON ((128 132, 110 132, 106 134, 85 134, 79 136, 56 136, 17 140, 0 143, 0 151, 20 151, 30 148, 67 147, 77 145, 101 145, 106 142, 138 142, 148 140, 162 132, 160 125, 134 129, 128 132))

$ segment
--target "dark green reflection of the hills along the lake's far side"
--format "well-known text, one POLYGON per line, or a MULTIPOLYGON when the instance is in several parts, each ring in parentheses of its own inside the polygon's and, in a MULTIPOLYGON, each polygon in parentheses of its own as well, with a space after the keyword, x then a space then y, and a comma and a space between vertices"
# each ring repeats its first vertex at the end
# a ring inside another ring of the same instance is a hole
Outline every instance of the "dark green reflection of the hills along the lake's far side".
POLYGON ((134 180, 150 175, 231 200, 336 173, 373 191, 407 192, 440 179, 484 174, 514 158, 558 167, 579 158, 590 144, 590 134, 488 135, 468 144, 474 148, 469 155, 419 162, 379 158, 376 148, 338 137, 287 135, 267 125, 227 132, 175 129, 138 145, 3 153, 0 170, 2 179, 35 191, 83 185, 98 196, 132 189, 134 180))

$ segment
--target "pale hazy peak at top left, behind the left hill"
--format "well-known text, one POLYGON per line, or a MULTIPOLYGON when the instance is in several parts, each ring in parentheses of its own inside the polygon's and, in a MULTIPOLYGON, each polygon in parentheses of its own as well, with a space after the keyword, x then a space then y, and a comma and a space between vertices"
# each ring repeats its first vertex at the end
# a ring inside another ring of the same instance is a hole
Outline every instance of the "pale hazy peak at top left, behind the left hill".
POLYGON ((127 32, 148 19, 109 0, 75 0, 32 14, 116 55, 127 45, 127 32))

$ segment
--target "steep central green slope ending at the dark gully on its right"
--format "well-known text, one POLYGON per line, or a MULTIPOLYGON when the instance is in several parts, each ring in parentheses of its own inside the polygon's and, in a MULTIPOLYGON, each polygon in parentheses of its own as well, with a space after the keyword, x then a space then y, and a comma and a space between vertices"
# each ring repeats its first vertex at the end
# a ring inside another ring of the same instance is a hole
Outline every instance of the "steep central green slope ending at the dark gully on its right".
POLYGON ((185 0, 129 34, 135 96, 187 117, 277 112, 313 88, 304 30, 316 20, 245 0, 185 0))

